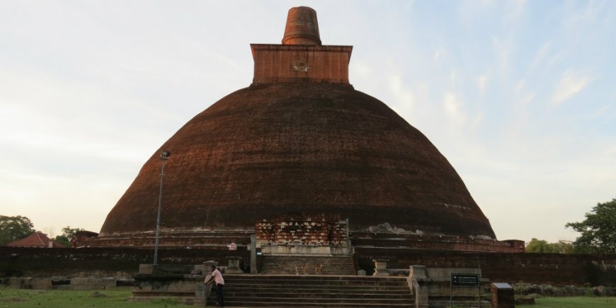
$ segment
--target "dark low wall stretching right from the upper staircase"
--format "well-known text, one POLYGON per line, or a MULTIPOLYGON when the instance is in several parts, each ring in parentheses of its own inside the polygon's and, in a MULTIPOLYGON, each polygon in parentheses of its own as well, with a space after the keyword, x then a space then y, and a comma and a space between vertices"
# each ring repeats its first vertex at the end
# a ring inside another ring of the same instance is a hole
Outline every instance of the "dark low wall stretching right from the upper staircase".
POLYGON ((372 275, 374 259, 388 268, 481 268, 483 277, 498 283, 616 286, 616 254, 475 253, 355 247, 358 265, 372 275))

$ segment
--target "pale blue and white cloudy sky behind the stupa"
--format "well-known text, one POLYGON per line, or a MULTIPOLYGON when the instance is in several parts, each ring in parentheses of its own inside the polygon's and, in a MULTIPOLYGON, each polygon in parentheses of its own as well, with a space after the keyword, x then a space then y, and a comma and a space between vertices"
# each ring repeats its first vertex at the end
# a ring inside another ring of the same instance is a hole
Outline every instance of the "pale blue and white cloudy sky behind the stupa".
POLYGON ((353 45, 350 83, 435 144, 498 239, 574 240, 616 198, 616 1, 0 0, 0 215, 98 232, 292 6, 353 45))

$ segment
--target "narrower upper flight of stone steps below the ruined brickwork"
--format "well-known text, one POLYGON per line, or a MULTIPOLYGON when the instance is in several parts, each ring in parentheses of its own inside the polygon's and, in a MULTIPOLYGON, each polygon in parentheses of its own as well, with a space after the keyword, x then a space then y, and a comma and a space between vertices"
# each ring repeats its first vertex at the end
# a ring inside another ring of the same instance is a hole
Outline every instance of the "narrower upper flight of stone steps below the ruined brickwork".
POLYGON ((262 256, 258 273, 265 275, 356 275, 350 256, 262 256))

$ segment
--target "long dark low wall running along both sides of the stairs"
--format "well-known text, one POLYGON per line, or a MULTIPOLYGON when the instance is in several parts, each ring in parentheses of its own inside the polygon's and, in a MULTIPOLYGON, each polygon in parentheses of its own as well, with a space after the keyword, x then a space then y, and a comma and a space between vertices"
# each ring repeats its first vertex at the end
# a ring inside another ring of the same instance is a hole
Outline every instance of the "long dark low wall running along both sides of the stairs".
MULTIPOLYGON (((227 265, 227 256, 249 263, 250 251, 223 249, 161 249, 161 264, 227 265)), ((0 247, 0 277, 132 278, 139 264, 152 263, 154 251, 127 248, 44 249, 0 247)), ((355 247, 355 263, 368 275, 375 259, 387 259, 387 268, 481 268, 483 277, 497 283, 616 286, 616 254, 474 253, 426 249, 355 247)))

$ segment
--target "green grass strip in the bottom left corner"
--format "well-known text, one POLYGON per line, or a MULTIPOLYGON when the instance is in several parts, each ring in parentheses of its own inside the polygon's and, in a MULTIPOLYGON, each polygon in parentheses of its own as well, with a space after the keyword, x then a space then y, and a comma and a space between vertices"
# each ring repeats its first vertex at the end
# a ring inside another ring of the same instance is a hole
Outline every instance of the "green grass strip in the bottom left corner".
POLYGON ((120 290, 18 290, 0 288, 0 308, 186 308, 176 300, 154 300, 152 302, 132 302, 130 289, 120 290))

